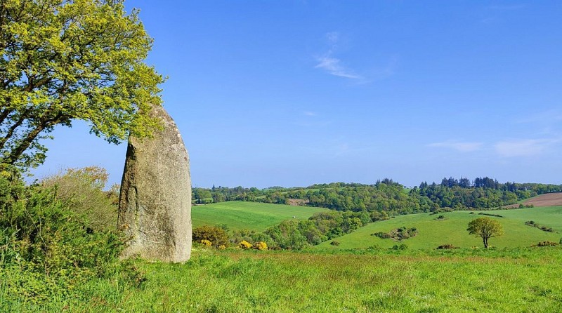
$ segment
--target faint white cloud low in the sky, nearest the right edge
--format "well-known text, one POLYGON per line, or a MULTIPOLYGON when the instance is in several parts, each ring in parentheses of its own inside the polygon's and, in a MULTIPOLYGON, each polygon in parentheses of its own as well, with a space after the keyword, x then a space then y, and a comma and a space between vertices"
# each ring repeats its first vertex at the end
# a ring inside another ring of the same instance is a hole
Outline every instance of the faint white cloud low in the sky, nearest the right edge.
POLYGON ((494 148, 499 156, 533 156, 542 154, 549 146, 559 141, 557 139, 514 139, 499 141, 494 148))

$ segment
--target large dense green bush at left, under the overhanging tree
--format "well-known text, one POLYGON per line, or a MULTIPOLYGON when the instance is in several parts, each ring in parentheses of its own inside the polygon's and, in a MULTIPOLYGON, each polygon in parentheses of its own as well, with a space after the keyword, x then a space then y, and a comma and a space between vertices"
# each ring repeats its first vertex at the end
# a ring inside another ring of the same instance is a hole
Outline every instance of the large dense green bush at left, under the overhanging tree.
MULTIPOLYGON (((4 295, 15 302, 67 297, 84 281, 122 267, 122 237, 92 229, 56 192, 0 176, 0 277, 4 295)), ((132 267, 122 270, 142 276, 132 267)))

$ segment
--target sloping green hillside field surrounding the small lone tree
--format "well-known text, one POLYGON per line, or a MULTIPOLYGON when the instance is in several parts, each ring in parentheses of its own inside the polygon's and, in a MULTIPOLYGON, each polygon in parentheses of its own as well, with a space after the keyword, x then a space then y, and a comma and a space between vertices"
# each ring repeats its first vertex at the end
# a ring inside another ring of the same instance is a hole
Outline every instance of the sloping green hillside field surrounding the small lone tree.
MULTIPOLYGON (((474 218, 487 215, 478 215, 481 211, 455 211, 449 213, 439 213, 445 215, 445 220, 434 220, 438 215, 429 213, 400 215, 390 220, 374 222, 365 227, 335 239, 340 242, 339 246, 332 246, 330 241, 315 246, 318 249, 347 249, 347 248, 367 248, 378 245, 381 247, 391 247, 396 244, 407 244, 409 248, 437 248, 442 244, 452 244, 458 247, 469 248, 472 246, 483 246, 481 238, 469 236, 466 227, 474 218), (375 232, 389 232, 398 227, 416 227, 418 234, 416 237, 405 239, 404 241, 393 241, 392 239, 380 239, 371 236, 375 232)), ((498 220, 504 227, 502 237, 490 239, 492 246, 498 248, 530 246, 539 241, 554 241, 558 243, 562 237, 562 206, 549 206, 542 208, 522 208, 512 210, 484 211, 483 213, 498 214, 504 216, 489 218, 498 220), (525 225, 528 220, 533 220, 540 225, 552 227, 554 232, 544 232, 538 228, 525 225)))

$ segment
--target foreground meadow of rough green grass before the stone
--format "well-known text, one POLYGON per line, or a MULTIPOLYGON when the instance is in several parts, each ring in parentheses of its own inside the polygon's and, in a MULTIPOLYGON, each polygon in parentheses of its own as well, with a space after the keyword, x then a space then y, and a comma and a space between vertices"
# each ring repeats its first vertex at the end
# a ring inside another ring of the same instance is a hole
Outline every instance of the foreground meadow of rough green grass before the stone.
MULTIPOLYGON (((6 312, 561 312, 562 249, 426 255, 193 251, 184 265, 138 261, 140 288, 84 284, 77 299, 6 312)), ((404 254, 406 253, 406 254, 404 254)), ((0 293, 1 298, 1 293, 0 293)))

